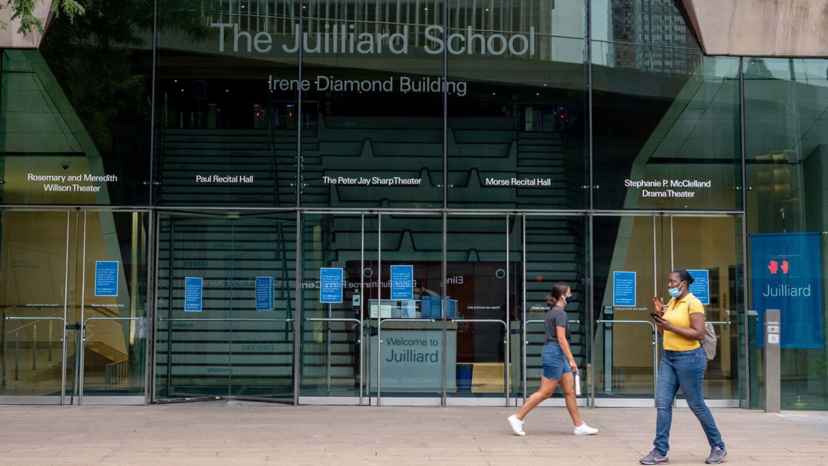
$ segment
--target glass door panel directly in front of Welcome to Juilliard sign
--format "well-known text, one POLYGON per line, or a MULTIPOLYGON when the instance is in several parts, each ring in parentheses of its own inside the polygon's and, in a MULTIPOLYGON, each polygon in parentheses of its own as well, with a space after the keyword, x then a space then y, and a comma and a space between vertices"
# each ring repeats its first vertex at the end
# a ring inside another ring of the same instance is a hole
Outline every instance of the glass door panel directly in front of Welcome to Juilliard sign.
MULTIPOLYGON (((435 399, 443 394, 443 353, 446 390, 455 391, 460 339, 458 324, 441 319, 443 218, 383 213, 378 231, 378 255, 376 260, 366 261, 363 271, 372 278, 363 297, 368 327, 368 391, 376 396, 379 390, 381 400, 427 397, 439 404, 435 399), (411 267, 392 279, 395 265, 411 267), (398 279, 402 279, 402 288, 412 287, 410 294, 392 294, 392 283, 398 279)), ((455 308, 455 298, 448 299, 445 315, 450 317, 455 308)))

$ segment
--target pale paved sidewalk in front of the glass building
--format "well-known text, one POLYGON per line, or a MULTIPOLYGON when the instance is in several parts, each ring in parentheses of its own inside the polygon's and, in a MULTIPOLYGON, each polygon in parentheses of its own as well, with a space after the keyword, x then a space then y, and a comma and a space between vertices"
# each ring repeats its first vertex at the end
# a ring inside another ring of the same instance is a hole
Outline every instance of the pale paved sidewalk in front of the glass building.
MULTIPOLYGON (((564 408, 538 408, 525 437, 513 410, 484 407, 0 405, 0 464, 638 464, 654 409, 581 409, 598 435, 575 437, 564 408)), ((828 412, 714 410, 726 464, 828 464, 828 412)), ((673 418, 672 464, 704 464, 689 410, 673 418)))

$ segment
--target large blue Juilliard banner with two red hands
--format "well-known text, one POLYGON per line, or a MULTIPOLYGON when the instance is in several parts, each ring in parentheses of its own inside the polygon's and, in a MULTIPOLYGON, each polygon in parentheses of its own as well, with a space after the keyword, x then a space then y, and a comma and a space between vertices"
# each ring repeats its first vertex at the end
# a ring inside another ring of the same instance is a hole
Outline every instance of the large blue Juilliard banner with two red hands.
MULTIPOLYGON (((751 289, 758 312, 757 335, 764 335, 764 313, 780 310, 783 348, 822 348, 822 267, 819 233, 750 235, 751 289)), ((763 337, 756 339, 763 347, 763 337)))

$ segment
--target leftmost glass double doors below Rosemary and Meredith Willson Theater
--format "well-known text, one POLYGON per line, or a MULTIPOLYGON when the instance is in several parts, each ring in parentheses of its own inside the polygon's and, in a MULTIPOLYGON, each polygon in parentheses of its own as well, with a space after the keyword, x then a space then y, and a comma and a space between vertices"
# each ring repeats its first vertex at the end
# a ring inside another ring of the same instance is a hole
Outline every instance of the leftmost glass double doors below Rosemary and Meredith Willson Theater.
POLYGON ((0 402, 145 402, 148 220, 2 211, 0 402))

